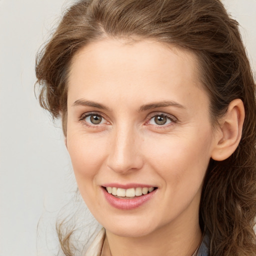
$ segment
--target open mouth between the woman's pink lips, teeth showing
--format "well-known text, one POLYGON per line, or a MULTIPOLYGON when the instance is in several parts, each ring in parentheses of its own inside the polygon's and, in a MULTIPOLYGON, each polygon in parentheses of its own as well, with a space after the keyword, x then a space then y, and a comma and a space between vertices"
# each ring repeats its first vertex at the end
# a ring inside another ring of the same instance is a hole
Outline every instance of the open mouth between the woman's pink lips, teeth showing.
POLYGON ((127 189, 121 187, 103 186, 107 193, 120 199, 134 199, 156 190, 157 187, 130 187, 127 189))

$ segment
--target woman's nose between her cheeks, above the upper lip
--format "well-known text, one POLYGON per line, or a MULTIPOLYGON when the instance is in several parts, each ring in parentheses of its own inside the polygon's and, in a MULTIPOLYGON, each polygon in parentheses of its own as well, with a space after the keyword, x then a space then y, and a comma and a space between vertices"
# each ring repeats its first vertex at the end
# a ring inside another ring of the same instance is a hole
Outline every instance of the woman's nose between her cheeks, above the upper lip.
POLYGON ((109 145, 108 167, 122 174, 140 169, 143 165, 140 142, 138 132, 132 127, 123 125, 116 129, 109 145))

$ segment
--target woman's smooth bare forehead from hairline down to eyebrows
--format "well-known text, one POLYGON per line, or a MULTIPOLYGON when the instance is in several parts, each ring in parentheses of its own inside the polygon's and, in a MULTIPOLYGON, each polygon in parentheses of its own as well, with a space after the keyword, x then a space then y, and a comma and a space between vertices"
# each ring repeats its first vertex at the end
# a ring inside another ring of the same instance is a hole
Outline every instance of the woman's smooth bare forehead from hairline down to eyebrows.
POLYGON ((152 40, 105 39, 84 46, 73 57, 68 102, 88 96, 98 100, 99 95, 102 100, 122 97, 134 101, 143 95, 140 100, 145 102, 176 101, 201 88, 193 52, 152 40))

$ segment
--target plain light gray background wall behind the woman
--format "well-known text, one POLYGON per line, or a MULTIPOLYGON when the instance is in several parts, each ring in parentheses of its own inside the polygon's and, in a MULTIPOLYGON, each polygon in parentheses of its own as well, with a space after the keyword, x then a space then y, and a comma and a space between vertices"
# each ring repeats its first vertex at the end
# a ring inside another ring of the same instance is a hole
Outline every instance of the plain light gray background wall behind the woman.
MULTIPOLYGON (((55 216, 76 189, 60 125, 33 92, 35 53, 70 2, 0 0, 0 256, 56 255, 55 216)), ((256 70, 256 0, 223 2, 256 70)))

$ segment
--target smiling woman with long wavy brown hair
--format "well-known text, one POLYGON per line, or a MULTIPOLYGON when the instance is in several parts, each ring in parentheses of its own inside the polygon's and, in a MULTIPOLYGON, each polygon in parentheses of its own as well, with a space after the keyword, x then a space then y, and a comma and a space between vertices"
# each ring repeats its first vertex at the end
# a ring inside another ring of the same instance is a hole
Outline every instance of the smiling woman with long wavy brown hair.
POLYGON ((219 0, 64 14, 36 75, 104 227, 86 255, 256 255, 255 84, 237 26, 219 0))

